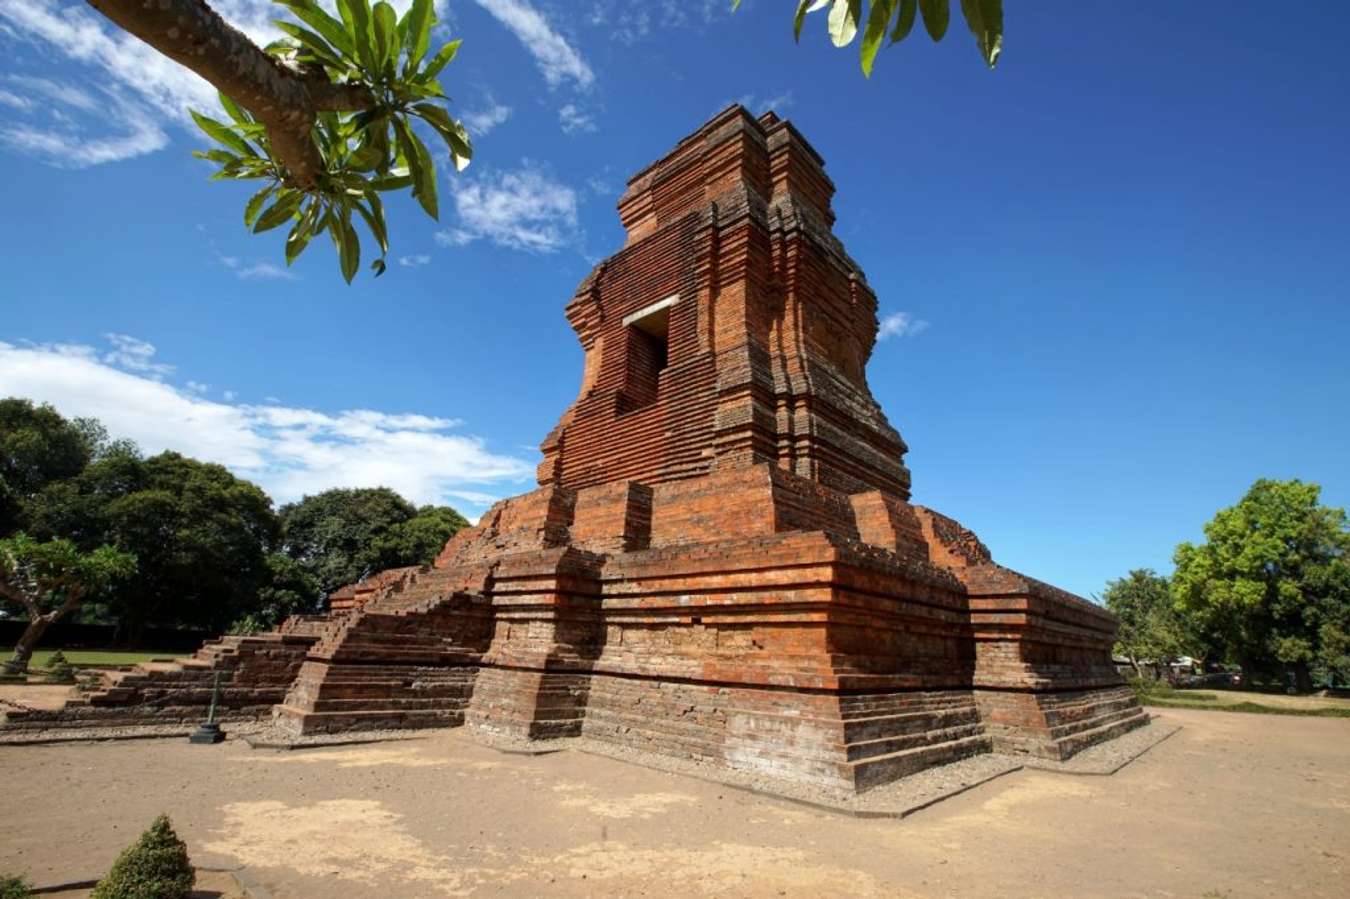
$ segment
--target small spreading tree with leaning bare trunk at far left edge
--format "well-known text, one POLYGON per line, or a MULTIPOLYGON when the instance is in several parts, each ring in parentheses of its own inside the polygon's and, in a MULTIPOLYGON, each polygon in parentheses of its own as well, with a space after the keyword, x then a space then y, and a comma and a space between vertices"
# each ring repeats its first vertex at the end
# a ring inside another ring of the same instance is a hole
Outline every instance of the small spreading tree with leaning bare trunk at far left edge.
POLYGON ((0 540, 0 598, 22 606, 28 616, 5 671, 27 671, 32 651, 53 622, 135 570, 136 557, 112 547, 81 552, 69 540, 38 541, 24 533, 0 540))

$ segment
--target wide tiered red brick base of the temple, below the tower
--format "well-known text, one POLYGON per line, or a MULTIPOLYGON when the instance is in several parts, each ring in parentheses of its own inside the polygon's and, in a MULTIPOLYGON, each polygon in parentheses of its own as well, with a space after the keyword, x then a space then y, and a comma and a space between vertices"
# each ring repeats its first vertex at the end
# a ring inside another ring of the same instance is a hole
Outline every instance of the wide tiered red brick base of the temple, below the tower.
POLYGON ((926 509, 767 466, 606 487, 608 506, 598 490, 498 503, 437 567, 373 593, 315 645, 278 724, 463 721, 865 790, 992 749, 1066 757, 1146 722, 1106 613, 926 509), (734 510, 720 526, 718 508, 734 510))

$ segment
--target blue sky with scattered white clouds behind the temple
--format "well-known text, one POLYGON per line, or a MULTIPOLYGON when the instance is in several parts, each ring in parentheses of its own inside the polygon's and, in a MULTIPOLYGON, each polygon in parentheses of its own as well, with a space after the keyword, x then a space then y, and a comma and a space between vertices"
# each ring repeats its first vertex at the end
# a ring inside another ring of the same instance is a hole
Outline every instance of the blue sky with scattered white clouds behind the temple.
MULTIPOLYGON (((261 32, 256 0, 215 4, 261 32)), ((286 271, 189 157, 211 92, 84 4, 0 0, 0 394, 224 462, 278 501, 385 482, 479 514, 574 398, 563 305, 628 174, 732 101, 828 162, 890 336, 914 499, 1080 594, 1258 476, 1350 505, 1350 62, 1339 3, 1008 3, 871 81, 822 15, 745 0, 452 0, 477 134, 390 271, 286 271), (112 335, 112 336, 109 336, 112 335)))

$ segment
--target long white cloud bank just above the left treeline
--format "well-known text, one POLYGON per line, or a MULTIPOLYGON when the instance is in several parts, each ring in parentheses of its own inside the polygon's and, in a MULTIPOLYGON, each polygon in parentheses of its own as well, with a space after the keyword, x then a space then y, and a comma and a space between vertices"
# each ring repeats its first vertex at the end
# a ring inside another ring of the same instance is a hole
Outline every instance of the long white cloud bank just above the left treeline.
POLYGON ((151 344, 127 335, 117 339, 108 354, 78 344, 0 342, 0 396, 96 417, 109 433, 135 440, 146 452, 173 450, 217 462, 278 502, 329 487, 389 486, 418 503, 454 498, 486 505, 494 494, 485 487, 516 485, 533 474, 526 460, 498 455, 481 437, 458 433, 460 423, 451 418, 207 400, 154 377, 151 344), (107 360, 120 354, 150 369, 124 370, 128 366, 107 360))

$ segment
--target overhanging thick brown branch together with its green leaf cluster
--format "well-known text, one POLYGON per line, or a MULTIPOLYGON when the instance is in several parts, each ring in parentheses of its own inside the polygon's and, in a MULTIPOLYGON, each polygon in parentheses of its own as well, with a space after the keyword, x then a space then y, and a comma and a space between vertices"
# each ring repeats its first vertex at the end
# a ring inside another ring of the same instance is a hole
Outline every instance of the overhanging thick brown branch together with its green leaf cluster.
POLYGON ((451 117, 437 76, 459 40, 431 53, 433 0, 413 0, 402 18, 382 0, 278 0, 293 19, 258 47, 205 0, 89 0, 89 5, 220 92, 228 123, 193 112, 219 146, 197 155, 220 165, 213 178, 256 180, 244 207, 255 234, 289 225, 289 265, 328 234, 348 282, 360 267, 359 219, 385 271, 389 235, 381 194, 405 188, 439 215, 436 165, 418 127, 446 142, 456 169, 473 148, 451 117))

